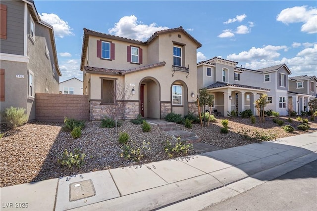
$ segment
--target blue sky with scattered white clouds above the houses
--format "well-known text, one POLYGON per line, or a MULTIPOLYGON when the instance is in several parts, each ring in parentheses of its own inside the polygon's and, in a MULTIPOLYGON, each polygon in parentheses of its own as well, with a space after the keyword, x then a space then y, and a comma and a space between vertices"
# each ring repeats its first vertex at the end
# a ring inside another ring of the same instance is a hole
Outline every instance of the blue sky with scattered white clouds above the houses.
POLYGON ((260 69, 285 63, 290 76, 317 75, 316 1, 35 0, 53 25, 60 82, 79 70, 83 28, 146 41, 182 26, 203 46, 197 62, 214 56, 260 69))

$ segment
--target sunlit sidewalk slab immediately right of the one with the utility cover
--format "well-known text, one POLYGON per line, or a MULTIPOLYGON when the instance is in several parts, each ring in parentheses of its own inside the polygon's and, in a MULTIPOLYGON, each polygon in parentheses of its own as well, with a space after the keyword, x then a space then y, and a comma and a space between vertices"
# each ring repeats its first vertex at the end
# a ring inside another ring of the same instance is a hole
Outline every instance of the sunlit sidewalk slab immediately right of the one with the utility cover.
POLYGON ((167 184, 145 165, 110 169, 109 171, 121 196, 167 184))

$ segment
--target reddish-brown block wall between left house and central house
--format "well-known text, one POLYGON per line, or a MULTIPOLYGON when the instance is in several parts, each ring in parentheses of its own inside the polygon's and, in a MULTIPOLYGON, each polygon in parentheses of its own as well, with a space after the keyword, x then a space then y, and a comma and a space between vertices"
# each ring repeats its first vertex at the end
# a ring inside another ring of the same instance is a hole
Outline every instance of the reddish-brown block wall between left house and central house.
POLYGON ((88 95, 36 93, 35 104, 37 121, 89 120, 88 95))

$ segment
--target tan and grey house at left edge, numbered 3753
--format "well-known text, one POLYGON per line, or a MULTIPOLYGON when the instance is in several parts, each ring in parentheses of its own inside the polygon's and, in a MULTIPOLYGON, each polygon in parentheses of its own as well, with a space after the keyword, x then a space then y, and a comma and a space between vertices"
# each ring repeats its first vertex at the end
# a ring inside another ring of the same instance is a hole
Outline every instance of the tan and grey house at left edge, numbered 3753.
POLYGON ((58 93, 53 27, 40 19, 31 0, 1 0, 1 110, 26 109, 35 120, 35 93, 58 93))

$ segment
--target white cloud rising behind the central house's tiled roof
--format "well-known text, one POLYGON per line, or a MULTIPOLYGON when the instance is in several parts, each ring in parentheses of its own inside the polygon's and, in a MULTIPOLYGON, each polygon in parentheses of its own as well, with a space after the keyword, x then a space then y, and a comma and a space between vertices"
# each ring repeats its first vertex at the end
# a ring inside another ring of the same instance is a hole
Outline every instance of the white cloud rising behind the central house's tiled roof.
POLYGON ((137 17, 134 15, 124 16, 119 20, 119 22, 115 23, 114 27, 109 29, 108 32, 119 37, 146 41, 156 31, 168 29, 168 27, 157 26, 156 23, 146 25, 137 20, 137 17))

